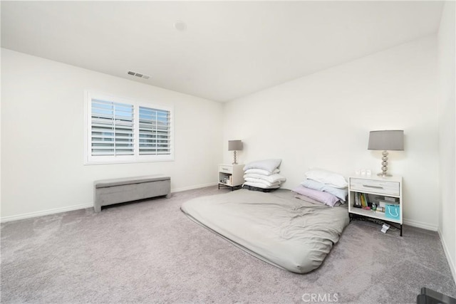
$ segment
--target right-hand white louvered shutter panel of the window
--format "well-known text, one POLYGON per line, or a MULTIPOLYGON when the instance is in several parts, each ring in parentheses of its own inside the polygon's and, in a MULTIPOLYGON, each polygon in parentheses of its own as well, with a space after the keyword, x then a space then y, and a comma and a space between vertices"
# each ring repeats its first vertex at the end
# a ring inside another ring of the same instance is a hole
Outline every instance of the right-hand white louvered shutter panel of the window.
POLYGON ((170 111, 140 107, 140 155, 171 154, 170 111))

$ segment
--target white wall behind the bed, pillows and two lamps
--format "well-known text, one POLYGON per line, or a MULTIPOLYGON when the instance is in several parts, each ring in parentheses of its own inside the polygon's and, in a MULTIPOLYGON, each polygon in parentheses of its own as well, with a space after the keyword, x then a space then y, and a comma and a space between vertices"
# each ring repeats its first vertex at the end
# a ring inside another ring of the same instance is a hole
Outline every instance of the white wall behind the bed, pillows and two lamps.
POLYGON ((224 142, 243 140, 240 162, 281 158, 292 189, 310 167, 380 172, 368 132, 404 130, 405 151, 390 152, 388 171, 403 176, 405 223, 437 230, 436 47, 435 35, 421 38, 233 100, 224 107, 224 142))

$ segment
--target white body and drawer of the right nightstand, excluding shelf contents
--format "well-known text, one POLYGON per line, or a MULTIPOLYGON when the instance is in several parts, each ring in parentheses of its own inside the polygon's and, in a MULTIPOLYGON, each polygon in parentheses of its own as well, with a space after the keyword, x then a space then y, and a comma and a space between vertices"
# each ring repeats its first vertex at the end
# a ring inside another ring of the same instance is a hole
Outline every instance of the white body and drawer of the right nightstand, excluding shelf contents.
POLYGON ((348 177, 348 213, 359 216, 367 216, 380 221, 387 221, 400 225, 400 236, 402 236, 403 225, 403 199, 402 199, 402 177, 378 177, 356 175, 348 177), (385 196, 395 198, 399 203, 399 219, 391 219, 385 216, 385 212, 366 210, 354 207, 356 193, 368 194, 369 202, 376 202, 376 199, 385 200, 385 196), (383 199, 382 199, 383 198, 383 199))

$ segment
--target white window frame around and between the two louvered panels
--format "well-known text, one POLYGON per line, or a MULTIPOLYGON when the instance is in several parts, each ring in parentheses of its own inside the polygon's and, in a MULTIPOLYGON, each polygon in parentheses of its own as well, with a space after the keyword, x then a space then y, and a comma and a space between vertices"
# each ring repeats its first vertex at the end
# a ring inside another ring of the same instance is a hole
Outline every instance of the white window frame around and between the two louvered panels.
POLYGON ((168 105, 159 105, 143 100, 125 98, 112 94, 98 93, 86 90, 84 101, 84 164, 125 164, 135 162, 172 162, 175 160, 174 145, 174 108, 168 105), (112 103, 133 105, 133 155, 93 155, 92 154, 92 100, 103 100, 112 103), (140 155, 140 107, 162 110, 170 113, 169 142, 170 154, 143 154, 140 155))

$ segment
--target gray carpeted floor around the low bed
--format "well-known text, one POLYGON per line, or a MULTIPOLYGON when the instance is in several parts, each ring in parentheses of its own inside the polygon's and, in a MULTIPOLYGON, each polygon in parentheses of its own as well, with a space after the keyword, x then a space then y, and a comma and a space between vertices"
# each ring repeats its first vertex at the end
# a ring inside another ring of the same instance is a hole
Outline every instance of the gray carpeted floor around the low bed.
POLYGON ((1 303, 416 303, 456 297, 436 232, 352 221, 316 271, 264 263, 195 224, 182 202, 217 187, 1 224, 1 303))

